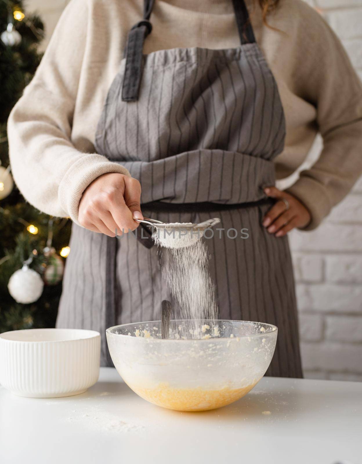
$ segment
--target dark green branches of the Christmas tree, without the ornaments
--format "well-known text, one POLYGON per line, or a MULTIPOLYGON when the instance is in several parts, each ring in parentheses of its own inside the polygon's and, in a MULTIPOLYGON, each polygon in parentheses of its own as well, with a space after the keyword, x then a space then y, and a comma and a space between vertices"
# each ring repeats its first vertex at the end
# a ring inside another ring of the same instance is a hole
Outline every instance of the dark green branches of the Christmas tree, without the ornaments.
MULTIPOLYGON (((6 46, 0 40, 0 161, 9 164, 6 123, 14 104, 31 81, 42 54, 37 51, 44 37, 44 24, 37 14, 27 16, 23 1, 0 0, 0 33, 6 30, 9 11, 14 8, 25 13, 22 21, 13 19, 21 42, 6 46)), ((30 267, 40 274, 48 263, 43 249, 48 238, 49 216, 32 207, 14 187, 13 192, 0 200, 0 332, 17 329, 54 327, 62 284, 45 285, 39 300, 32 304, 19 304, 10 296, 7 284, 12 274, 22 267, 30 254, 30 267), (38 227, 32 235, 26 226, 38 227), (32 253, 33 250, 37 254, 32 253)), ((52 246, 59 252, 67 246, 71 223, 54 218, 52 246)))

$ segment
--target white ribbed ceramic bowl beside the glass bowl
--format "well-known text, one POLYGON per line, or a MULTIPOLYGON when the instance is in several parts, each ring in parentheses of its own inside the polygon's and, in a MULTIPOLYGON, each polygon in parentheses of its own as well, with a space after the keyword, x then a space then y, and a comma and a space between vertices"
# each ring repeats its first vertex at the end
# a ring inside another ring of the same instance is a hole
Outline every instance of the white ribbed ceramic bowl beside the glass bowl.
POLYGON ((84 393, 98 380, 101 336, 94 330, 28 329, 0 334, 0 384, 19 396, 84 393))

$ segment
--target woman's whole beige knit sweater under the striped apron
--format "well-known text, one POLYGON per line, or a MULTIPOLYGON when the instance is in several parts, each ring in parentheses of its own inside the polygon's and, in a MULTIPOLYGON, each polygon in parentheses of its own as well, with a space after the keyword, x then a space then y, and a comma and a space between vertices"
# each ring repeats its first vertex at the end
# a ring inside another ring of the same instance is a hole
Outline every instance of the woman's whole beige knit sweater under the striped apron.
MULTIPOLYGON (((319 130, 323 152, 288 191, 316 227, 362 172, 362 86, 342 45, 302 0, 281 0, 263 25, 247 0, 257 42, 276 78, 286 116, 286 145, 277 178, 304 161, 319 130)), ((33 206, 78 219, 79 200, 99 175, 128 174, 97 155, 98 118, 142 0, 71 0, 44 58, 8 120, 14 179, 33 206)), ((231 0, 156 0, 144 53, 175 47, 239 45, 231 0)))

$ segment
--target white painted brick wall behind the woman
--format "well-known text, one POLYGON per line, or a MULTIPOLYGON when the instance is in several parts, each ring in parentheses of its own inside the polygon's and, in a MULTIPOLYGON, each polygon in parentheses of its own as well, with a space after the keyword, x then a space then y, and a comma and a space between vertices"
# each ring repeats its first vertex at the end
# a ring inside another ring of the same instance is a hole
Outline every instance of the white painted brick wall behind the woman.
MULTIPOLYGON (((306 1, 342 39, 362 77, 362 0, 306 1)), ((68 2, 27 1, 47 26, 43 49, 68 2)), ((317 140, 310 162, 320 148, 317 140)), ((322 226, 290 238, 305 376, 362 381, 362 178, 322 226)))

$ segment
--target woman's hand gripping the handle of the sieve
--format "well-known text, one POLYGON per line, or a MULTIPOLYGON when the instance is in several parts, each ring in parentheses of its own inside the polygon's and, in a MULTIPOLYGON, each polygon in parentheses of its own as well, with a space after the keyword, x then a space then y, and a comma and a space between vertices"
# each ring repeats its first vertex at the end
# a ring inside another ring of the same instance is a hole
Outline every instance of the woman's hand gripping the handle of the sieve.
POLYGON ((109 237, 135 230, 143 219, 141 185, 123 174, 102 174, 84 190, 79 202, 79 224, 109 237))

